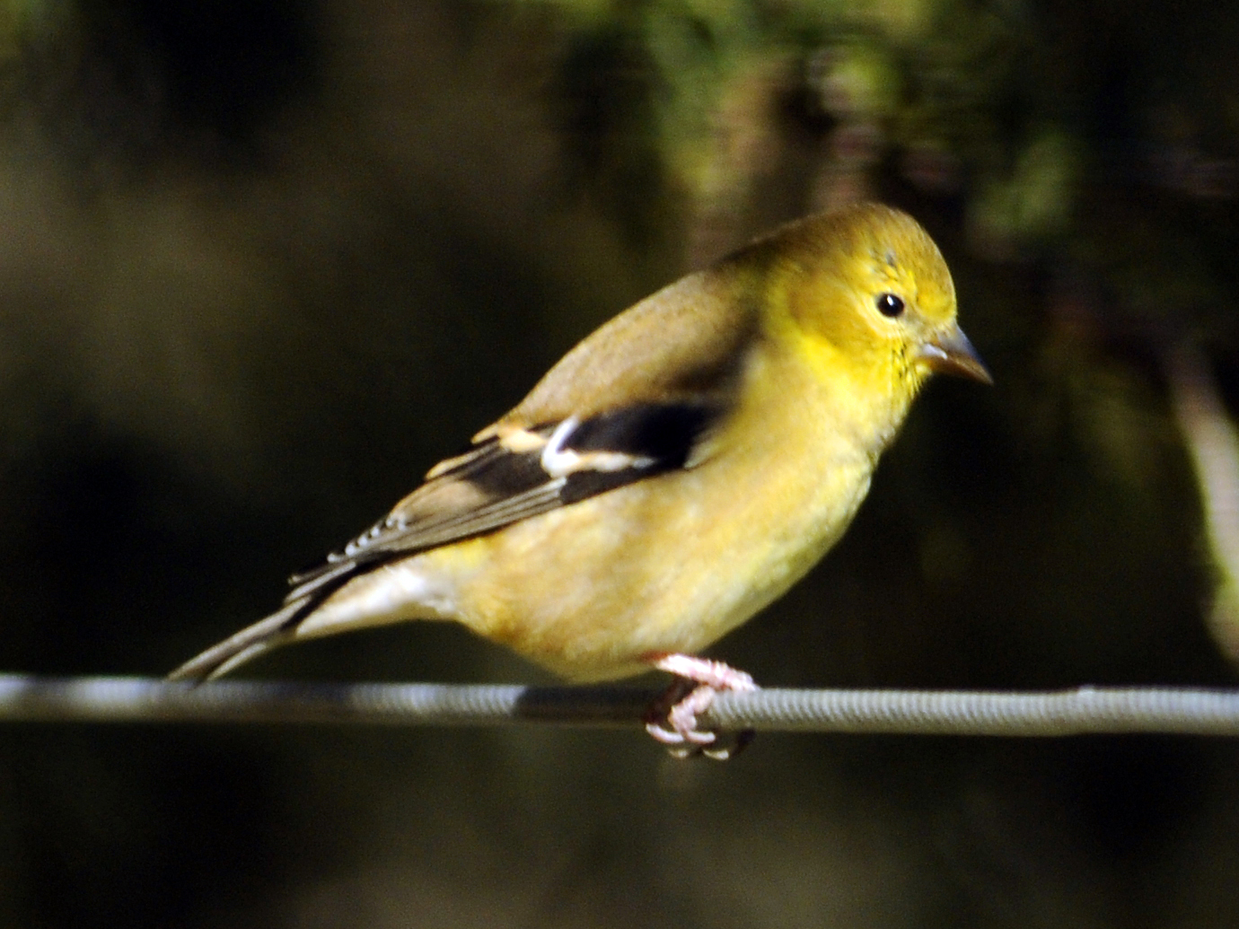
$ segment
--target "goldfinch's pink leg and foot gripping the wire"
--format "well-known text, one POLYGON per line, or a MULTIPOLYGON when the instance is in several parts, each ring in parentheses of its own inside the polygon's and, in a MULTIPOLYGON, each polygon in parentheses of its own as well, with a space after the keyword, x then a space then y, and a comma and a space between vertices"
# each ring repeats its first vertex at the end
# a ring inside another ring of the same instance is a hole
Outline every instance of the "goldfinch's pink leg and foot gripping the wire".
POLYGON ((725 761, 752 742, 752 730, 738 732, 721 744, 717 732, 699 730, 696 725, 696 717, 710 709, 720 690, 757 690, 751 676, 722 661, 693 655, 650 655, 648 660, 658 670, 675 675, 675 681, 646 716, 646 731, 668 746, 673 756, 704 754, 725 761))

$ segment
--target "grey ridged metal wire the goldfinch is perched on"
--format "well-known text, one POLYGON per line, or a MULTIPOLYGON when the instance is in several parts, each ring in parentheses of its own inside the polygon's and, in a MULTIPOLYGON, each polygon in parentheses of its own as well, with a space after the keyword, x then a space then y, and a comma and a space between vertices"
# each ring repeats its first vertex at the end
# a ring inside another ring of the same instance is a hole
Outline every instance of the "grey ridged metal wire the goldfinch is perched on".
MULTIPOLYGON (((657 690, 451 684, 301 684, 0 674, 0 722, 318 722, 637 726, 657 690)), ((757 690, 720 694, 725 730, 955 736, 1239 736, 1239 690, 1078 687, 1052 692, 757 690)))

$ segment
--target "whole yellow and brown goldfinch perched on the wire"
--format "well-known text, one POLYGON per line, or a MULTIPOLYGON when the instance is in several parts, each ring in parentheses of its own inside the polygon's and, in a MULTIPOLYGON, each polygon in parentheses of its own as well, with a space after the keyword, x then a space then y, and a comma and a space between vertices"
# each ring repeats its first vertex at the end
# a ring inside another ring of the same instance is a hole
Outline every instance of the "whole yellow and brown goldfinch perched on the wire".
POLYGON ((938 248, 904 213, 849 206, 669 285, 569 352, 270 617, 172 673, 453 619, 572 681, 691 681, 662 741, 752 680, 694 653, 825 555, 932 372, 989 382, 938 248))

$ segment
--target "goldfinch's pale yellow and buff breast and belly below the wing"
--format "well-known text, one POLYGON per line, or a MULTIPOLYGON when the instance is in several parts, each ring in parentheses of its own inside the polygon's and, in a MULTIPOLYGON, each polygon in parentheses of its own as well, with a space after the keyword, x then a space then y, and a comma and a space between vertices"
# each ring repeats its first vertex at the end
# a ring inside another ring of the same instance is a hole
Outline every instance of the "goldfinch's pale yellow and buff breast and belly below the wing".
POLYGON ((812 357, 755 353, 695 467, 413 561, 457 575, 461 622, 572 680, 710 645, 799 580, 869 489, 885 440, 812 357))

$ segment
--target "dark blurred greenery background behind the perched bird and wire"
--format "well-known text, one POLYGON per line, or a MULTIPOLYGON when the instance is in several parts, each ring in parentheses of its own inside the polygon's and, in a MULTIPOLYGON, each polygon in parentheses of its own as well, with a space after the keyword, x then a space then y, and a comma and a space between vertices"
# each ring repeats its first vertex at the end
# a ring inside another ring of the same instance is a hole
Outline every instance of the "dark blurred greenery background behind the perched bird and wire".
MULTIPOLYGON (((1235 684, 1239 6, 12 0, 0 669, 160 675, 603 320, 877 198, 996 386, 715 654, 1235 684)), ((409 624, 253 675, 548 678, 409 624)), ((1222 739, 0 728, 0 925, 1233 927, 1222 739)))

